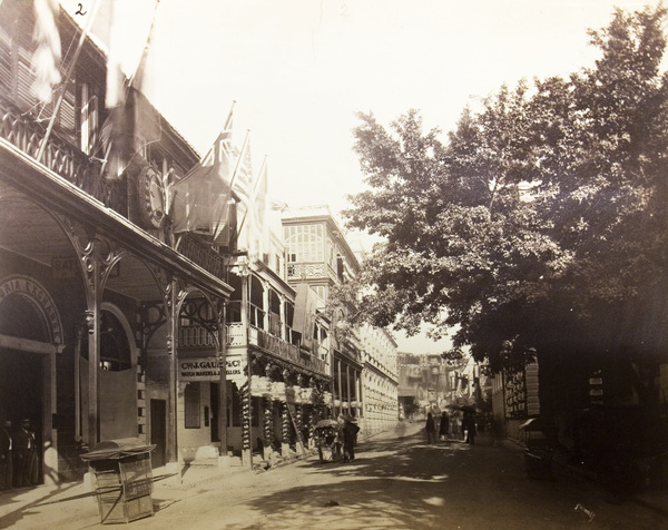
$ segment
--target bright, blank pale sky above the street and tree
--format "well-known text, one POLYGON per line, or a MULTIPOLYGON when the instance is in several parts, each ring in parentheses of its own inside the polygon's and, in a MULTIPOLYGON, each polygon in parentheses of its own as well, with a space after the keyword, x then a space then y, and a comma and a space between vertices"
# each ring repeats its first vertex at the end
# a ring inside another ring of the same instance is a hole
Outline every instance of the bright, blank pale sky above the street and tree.
MULTIPOLYGON (((73 13, 79 2, 62 3, 73 13)), ((92 0, 81 3, 88 9, 92 0)), ((148 96, 200 153, 236 100, 237 143, 249 129, 255 169, 268 157, 271 195, 338 212, 347 194, 363 189, 352 151, 355 112, 373 111, 389 125, 416 108, 426 127, 449 131, 466 105, 503 82, 592 65, 587 29, 608 26, 616 6, 656 3, 161 0, 148 96)), ((154 4, 131 1, 126 43, 135 50, 154 4)), ((401 340, 400 350, 414 344, 401 340)), ((420 349, 442 351, 432 342, 420 349)))

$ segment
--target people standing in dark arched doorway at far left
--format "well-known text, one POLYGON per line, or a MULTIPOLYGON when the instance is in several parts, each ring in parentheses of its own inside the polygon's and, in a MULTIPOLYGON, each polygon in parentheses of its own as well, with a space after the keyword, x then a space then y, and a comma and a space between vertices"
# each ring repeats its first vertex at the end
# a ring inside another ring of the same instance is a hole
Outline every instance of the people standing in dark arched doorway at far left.
POLYGON ((38 483, 38 453, 30 420, 13 430, 11 421, 0 426, 0 490, 38 483))

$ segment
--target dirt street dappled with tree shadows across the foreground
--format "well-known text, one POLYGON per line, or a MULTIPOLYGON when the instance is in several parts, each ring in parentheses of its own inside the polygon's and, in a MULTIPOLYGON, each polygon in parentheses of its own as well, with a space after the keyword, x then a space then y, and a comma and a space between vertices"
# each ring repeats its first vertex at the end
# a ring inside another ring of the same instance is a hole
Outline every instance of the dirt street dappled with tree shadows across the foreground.
MULTIPOLYGON (((158 483, 156 513, 136 529, 651 529, 660 513, 609 502, 591 482, 556 470, 529 480, 523 453, 484 436, 426 445, 419 425, 403 438, 361 443, 351 463, 315 458, 264 472, 237 472, 180 488, 158 483)), ((76 490, 69 492, 76 493, 76 490)), ((68 492, 59 492, 67 497, 68 492)), ((3 500, 0 498, 0 501, 3 500)), ((41 501, 43 502, 43 500, 41 501)), ((0 506, 0 527, 90 529, 101 526, 95 499, 20 509, 0 506)))

